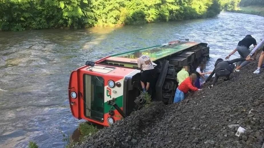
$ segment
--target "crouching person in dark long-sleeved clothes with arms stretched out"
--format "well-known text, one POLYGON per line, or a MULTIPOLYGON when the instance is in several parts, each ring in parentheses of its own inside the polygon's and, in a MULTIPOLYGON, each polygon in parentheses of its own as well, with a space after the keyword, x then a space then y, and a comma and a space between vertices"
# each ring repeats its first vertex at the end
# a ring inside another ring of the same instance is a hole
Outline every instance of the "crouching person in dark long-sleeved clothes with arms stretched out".
POLYGON ((224 76, 224 81, 229 80, 229 75, 233 72, 235 65, 233 63, 244 61, 245 58, 236 58, 230 61, 224 61, 223 59, 219 58, 215 62, 215 69, 210 74, 210 76, 206 79, 205 82, 208 82, 212 76, 215 74, 215 78, 213 80, 213 84, 209 86, 209 88, 213 87, 215 83, 217 82, 218 78, 221 76, 224 76))

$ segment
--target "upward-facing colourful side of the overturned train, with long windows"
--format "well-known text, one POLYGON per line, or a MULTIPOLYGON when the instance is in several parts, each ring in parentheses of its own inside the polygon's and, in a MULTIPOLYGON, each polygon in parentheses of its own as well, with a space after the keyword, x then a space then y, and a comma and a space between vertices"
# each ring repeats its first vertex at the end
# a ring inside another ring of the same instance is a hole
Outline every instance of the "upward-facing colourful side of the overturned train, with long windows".
POLYGON ((107 64, 113 66, 123 66, 128 68, 137 68, 137 57, 135 52, 141 52, 142 55, 148 55, 151 61, 154 62, 166 56, 181 52, 187 48, 200 44, 199 42, 181 42, 172 41, 165 44, 151 46, 148 48, 133 50, 112 56, 107 56, 103 59, 96 61, 97 64, 107 64))

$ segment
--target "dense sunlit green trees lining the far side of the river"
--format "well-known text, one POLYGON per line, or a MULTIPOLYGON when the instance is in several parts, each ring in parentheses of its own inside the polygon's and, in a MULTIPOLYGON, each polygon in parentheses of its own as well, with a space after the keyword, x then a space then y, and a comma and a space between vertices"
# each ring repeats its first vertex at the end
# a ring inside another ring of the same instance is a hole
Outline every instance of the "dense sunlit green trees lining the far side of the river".
POLYGON ((133 25, 213 17, 240 0, 1 0, 0 30, 133 25))

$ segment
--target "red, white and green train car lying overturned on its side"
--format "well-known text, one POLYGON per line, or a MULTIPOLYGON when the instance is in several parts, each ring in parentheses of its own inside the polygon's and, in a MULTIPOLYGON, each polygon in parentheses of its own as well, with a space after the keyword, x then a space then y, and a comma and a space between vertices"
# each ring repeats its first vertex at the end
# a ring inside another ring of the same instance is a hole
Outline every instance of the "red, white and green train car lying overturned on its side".
POLYGON ((189 65, 193 72, 209 58, 206 43, 173 41, 157 46, 107 56, 74 70, 69 80, 71 112, 78 119, 109 126, 139 109, 144 100, 141 71, 135 52, 148 55, 155 63, 155 80, 151 82, 152 100, 172 103, 177 88, 177 72, 189 65))

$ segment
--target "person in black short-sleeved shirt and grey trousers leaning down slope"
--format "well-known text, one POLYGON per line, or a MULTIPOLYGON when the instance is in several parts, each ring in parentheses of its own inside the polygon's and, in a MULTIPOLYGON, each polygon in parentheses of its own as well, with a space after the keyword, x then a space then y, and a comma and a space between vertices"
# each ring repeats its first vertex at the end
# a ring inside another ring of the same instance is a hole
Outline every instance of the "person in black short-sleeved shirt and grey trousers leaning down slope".
MULTIPOLYGON (((232 54, 234 54, 236 51, 238 51, 241 58, 246 58, 249 54, 249 46, 254 45, 254 48, 257 46, 257 41, 255 38, 253 38, 251 35, 246 35, 245 38, 243 38, 241 41, 238 42, 237 48, 233 50, 225 59, 229 59, 232 54)), ((239 72, 240 68, 247 65, 250 61, 240 61, 237 62, 237 68, 235 71, 239 72)))

